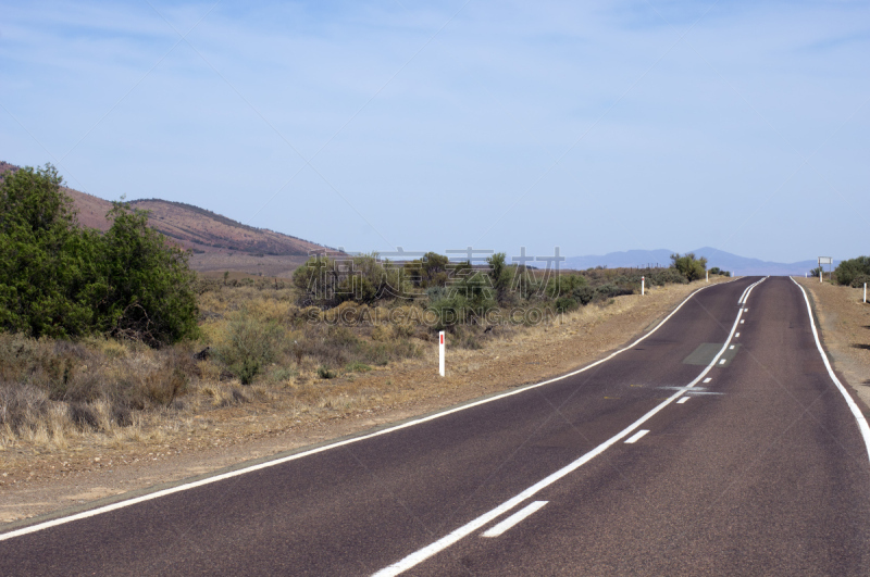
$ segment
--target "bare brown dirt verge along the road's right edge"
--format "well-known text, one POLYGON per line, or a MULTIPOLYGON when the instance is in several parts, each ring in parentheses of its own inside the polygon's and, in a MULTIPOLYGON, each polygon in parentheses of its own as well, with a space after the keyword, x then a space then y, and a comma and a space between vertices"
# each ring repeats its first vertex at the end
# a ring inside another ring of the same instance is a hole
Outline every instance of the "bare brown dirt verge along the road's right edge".
POLYGON ((819 283, 816 278, 796 280, 810 292, 834 369, 870 406, 870 303, 863 303, 863 289, 819 283))

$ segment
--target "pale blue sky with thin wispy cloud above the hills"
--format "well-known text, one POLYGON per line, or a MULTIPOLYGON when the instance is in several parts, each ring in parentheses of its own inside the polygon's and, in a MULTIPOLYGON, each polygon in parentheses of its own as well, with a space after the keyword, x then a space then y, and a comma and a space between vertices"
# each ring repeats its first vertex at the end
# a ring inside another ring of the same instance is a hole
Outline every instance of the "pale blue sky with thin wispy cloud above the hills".
POLYGON ((0 160, 355 251, 867 254, 868 2, 0 2, 0 160))

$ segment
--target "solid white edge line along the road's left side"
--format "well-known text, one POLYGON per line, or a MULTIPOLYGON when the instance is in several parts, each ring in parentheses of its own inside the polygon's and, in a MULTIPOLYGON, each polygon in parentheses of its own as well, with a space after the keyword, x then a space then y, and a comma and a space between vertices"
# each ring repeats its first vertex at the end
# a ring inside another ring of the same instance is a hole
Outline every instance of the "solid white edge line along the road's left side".
POLYGON ((21 529, 16 529, 14 531, 3 532, 3 534, 0 534, 0 541, 5 541, 7 539, 12 539, 14 537, 21 537, 22 535, 28 535, 28 534, 32 534, 32 532, 40 531, 42 529, 49 529, 51 527, 57 527, 58 525, 63 525, 65 523, 71 523, 73 520, 79 520, 79 519, 84 519, 84 518, 88 518, 88 517, 94 517, 94 516, 97 516, 97 515, 101 515, 103 513, 109 513, 111 511, 116 511, 119 509, 124 509, 126 506, 135 505, 137 503, 141 503, 141 502, 145 502, 145 501, 150 501, 152 499, 159 499, 159 498, 165 497, 167 494, 177 493, 177 492, 181 492, 181 491, 187 491, 189 489, 195 489, 197 487, 202 487, 203 485, 210 485, 212 482, 217 482, 217 481, 222 481, 222 480, 229 479, 229 478, 233 478, 233 477, 238 477, 240 475, 245 475, 247 473, 252 473, 254 471, 260 471, 260 469, 263 469, 263 468, 273 467, 275 465, 281 465, 281 464, 287 463, 289 461, 295 461, 297 459, 302 459, 303 456, 312 455, 312 454, 315 454, 315 453, 321 453, 321 452, 327 451, 330 449, 335 449, 337 447, 343 447, 345 444, 350 444, 350 443, 359 442, 359 441, 362 441, 362 440, 365 440, 365 439, 371 439, 373 437, 378 437, 381 435, 386 435, 387 432, 393 432, 394 430, 399 430, 399 429, 403 429, 403 428, 407 428, 407 427, 412 427, 414 425, 419 425, 421 423, 426 423, 428 421, 434 421, 436 418, 440 418, 443 416, 450 415, 452 413, 458 413, 459 411, 464 411, 465 409, 471 409, 472 406, 477 406, 477 405, 481 405, 481 404, 484 404, 484 403, 489 403, 489 402, 493 402, 493 401, 497 401, 499 399, 505 399, 506 397, 511 397, 513 394, 519 394, 521 392, 525 392, 527 390, 535 389, 537 387, 543 387, 545 385, 549 385, 550 382, 556 382, 557 380, 562 380, 562 379, 568 378, 568 377, 573 377, 574 375, 579 375, 580 373, 588 371, 589 368, 593 368, 594 366, 597 366, 597 365, 599 365, 599 364, 601 364, 601 363, 604 363, 606 361, 609 361, 610 359, 614 358, 619 353, 627 351, 629 349, 632 349, 635 346, 637 346, 637 343, 639 343, 641 341, 643 341, 644 339, 646 339, 647 337, 649 337, 650 335, 656 333, 659 328, 661 328, 664 325, 664 323, 668 322, 668 319, 670 319, 674 314, 676 314, 676 311, 682 309, 685 303, 687 303, 695 294, 697 294, 701 290, 710 288, 710 287, 719 286, 719 285, 728 285, 728 284, 734 283, 736 280, 738 280, 738 279, 735 278, 734 280, 729 280, 726 283, 718 283, 717 285, 705 285, 705 286, 698 288, 697 290, 694 290, 688 297, 686 297, 683 300, 683 302, 680 303, 680 305, 676 309, 671 311, 671 313, 668 316, 666 316, 664 319, 661 323, 656 325, 656 328, 654 328, 652 330, 650 330, 649 333, 647 333, 646 335, 644 335, 643 337, 641 337, 636 341, 632 342, 631 344, 629 344, 624 349, 620 349, 620 350, 611 353, 609 356, 600 359, 600 360, 598 360, 598 361, 596 361, 596 362, 594 362, 594 363, 592 363, 589 365, 586 365, 583 368, 579 368, 577 371, 574 371, 572 373, 568 373, 566 375, 561 375, 559 377, 555 377, 555 378, 551 378, 549 380, 544 380, 542 382, 536 382, 534 385, 529 385, 527 387, 522 387, 522 388, 519 388, 519 389, 514 389, 512 391, 504 392, 504 393, 497 394, 495 397, 488 397, 486 399, 481 399, 480 401, 475 401, 473 403, 464 404, 462 406, 456 406, 453 409, 448 409, 447 411, 444 411, 444 412, 440 412, 440 413, 435 413, 434 415, 428 415, 428 416, 425 416, 425 417, 422 417, 422 418, 418 418, 415 421, 409 421, 408 423, 402 423, 401 425, 396 425, 395 427, 388 427, 386 429, 382 429, 382 430, 378 430, 378 431, 375 431, 375 432, 372 432, 372 434, 369 434, 369 435, 363 435, 361 437, 353 437, 352 439, 346 439, 344 441, 338 441, 338 442, 335 442, 335 443, 332 443, 332 444, 325 444, 323 447, 318 447, 316 449, 311 449, 310 451, 303 451, 301 453, 287 455, 287 456, 284 456, 284 457, 281 457, 281 459, 275 459, 273 461, 266 461, 265 463, 259 463, 257 465, 251 465, 249 467, 239 468, 239 469, 236 469, 236 471, 231 471, 228 473, 223 473, 221 475, 214 475, 213 477, 199 479, 197 481, 192 481, 192 482, 188 482, 188 484, 184 484, 184 485, 177 485, 177 486, 171 487, 169 489, 163 489, 161 491, 154 491, 152 493, 144 494, 144 496, 140 496, 140 497, 135 497, 133 499, 127 499, 125 501, 119 501, 116 503, 112 503, 112 504, 109 504, 109 505, 103 505, 103 506, 100 506, 100 507, 97 507, 97 509, 91 509, 89 511, 83 511, 82 513, 76 513, 75 515, 70 515, 67 517, 60 517, 60 518, 57 518, 57 519, 47 520, 45 523, 38 523, 36 525, 30 525, 29 527, 22 527, 21 529))

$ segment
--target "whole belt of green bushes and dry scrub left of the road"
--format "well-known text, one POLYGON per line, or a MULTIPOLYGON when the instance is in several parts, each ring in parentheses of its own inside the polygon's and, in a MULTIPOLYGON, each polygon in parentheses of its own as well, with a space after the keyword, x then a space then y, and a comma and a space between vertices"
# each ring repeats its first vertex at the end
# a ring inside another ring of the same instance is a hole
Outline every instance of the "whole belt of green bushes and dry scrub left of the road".
MULTIPOLYGON (((620 296, 703 278, 706 261, 554 271, 434 252, 314 255, 289 279, 206 278, 114 203, 82 229, 51 166, 0 184, 0 448, 144 435, 149 415, 322 406, 334 379, 414 359, 446 330, 469 351, 620 296)), ((722 273, 718 269, 713 274, 722 273)))

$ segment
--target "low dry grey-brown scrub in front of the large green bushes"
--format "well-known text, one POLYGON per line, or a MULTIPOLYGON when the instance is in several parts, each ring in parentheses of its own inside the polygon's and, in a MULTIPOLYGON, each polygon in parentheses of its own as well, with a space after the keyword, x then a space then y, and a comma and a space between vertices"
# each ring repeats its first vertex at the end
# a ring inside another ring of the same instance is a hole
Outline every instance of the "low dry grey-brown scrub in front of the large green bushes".
POLYGON ((60 442, 73 430, 128 427, 134 412, 176 403, 198 373, 183 346, 156 351, 107 339, 0 334, 0 428, 10 438, 60 442))

